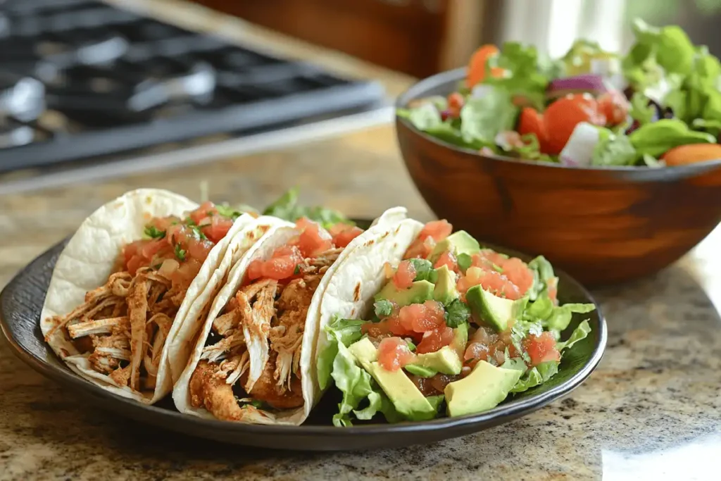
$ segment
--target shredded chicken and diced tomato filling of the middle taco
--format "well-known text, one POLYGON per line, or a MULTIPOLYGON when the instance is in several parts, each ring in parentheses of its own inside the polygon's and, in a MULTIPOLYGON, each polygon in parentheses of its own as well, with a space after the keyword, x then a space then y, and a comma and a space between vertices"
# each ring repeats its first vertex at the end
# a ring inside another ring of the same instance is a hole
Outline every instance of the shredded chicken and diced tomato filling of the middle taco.
POLYGON ((213 319, 190 377, 190 403, 215 418, 242 420, 246 409, 304 405, 301 345, 311 299, 343 248, 363 232, 307 218, 270 258, 249 263, 238 291, 213 319), (331 234, 332 232, 332 234, 331 234))

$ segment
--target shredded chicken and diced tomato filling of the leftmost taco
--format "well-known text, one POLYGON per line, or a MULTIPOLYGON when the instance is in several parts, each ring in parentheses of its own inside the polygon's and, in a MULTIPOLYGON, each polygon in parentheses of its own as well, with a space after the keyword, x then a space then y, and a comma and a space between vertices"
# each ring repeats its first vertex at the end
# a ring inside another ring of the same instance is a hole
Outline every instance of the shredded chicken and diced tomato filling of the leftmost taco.
POLYGON ((240 215, 205 202, 183 218, 150 219, 144 238, 123 247, 107 283, 69 314, 50 319, 45 340, 62 330, 94 371, 118 387, 152 392, 187 289, 240 215))

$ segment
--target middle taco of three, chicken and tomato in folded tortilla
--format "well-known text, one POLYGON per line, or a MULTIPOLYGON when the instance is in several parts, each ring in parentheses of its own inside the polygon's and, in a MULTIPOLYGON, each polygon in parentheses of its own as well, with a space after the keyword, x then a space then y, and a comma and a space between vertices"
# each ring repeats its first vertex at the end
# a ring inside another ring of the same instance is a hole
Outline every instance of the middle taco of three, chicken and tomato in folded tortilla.
POLYGON ((180 412, 261 424, 302 423, 319 393, 320 306, 339 266, 405 218, 392 208, 363 231, 302 218, 268 232, 231 269, 173 388, 180 412))

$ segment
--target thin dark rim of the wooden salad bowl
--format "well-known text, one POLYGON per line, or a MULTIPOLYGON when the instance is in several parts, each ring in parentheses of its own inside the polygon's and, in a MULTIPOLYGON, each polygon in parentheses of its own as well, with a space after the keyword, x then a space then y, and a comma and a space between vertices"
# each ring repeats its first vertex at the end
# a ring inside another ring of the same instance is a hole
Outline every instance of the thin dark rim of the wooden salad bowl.
POLYGON ((415 82, 415 84, 410 85, 407 89, 405 89, 401 94, 396 97, 396 101, 394 102, 394 109, 395 109, 395 118, 396 123, 401 123, 405 128, 408 128, 412 133, 415 133, 415 135, 420 136, 424 138, 426 141, 430 141, 433 144, 436 144, 441 147, 445 147, 446 149, 451 149, 453 151, 457 151, 462 154, 468 154, 472 156, 478 156, 482 157, 484 159, 490 159, 500 162, 508 162, 510 164, 522 164, 522 165, 534 165, 537 167, 549 167, 552 169, 565 169, 565 170, 575 170, 575 171, 594 171, 594 172, 659 172, 659 171, 669 171, 673 170, 674 173, 677 173, 678 175, 684 175, 684 173, 696 173, 696 172, 703 172, 706 170, 714 169, 715 167, 721 167, 721 158, 715 159, 715 160, 707 160, 704 162, 696 162, 694 164, 686 164, 686 165, 673 165, 673 166, 667 166, 664 165, 663 167, 641 167, 641 166, 634 166, 634 165, 612 165, 607 167, 584 167, 584 166, 578 166, 578 165, 563 165, 563 164, 554 164, 550 162, 536 162, 533 160, 528 159, 516 159, 514 157, 510 156, 503 156, 503 155, 497 155, 497 154, 480 154, 479 151, 475 151, 474 149, 469 149, 467 147, 460 147, 456 146, 454 144, 449 144, 448 142, 442 141, 439 138, 436 138, 434 136, 429 135, 428 133, 425 133, 423 131, 420 131, 419 129, 415 128, 415 126, 410 123, 409 120, 406 118, 403 118, 398 115, 398 109, 399 108, 405 108, 408 102, 411 100, 415 100, 418 98, 422 98, 424 92, 427 92, 430 89, 433 89, 435 87, 440 87, 444 84, 450 84, 451 82, 457 82, 466 76, 466 67, 459 67, 458 69, 452 69, 452 70, 446 70, 438 72, 438 74, 433 74, 431 76, 425 77, 424 79, 420 79, 419 81, 415 82))

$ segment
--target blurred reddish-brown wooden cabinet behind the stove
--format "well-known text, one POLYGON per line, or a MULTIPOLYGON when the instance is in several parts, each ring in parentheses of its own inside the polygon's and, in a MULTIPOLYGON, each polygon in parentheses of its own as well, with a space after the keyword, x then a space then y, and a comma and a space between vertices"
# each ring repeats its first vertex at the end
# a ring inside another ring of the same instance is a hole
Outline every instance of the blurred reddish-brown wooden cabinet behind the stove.
POLYGON ((414 76, 465 63, 480 0, 195 0, 220 12, 414 76))

